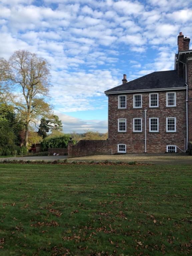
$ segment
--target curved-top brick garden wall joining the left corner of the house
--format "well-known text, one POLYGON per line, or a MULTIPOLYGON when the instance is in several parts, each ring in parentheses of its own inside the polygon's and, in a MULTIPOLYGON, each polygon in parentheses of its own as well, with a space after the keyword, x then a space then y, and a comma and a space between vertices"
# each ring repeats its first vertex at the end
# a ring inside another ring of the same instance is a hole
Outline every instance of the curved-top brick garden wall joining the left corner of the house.
POLYGON ((68 158, 89 155, 111 155, 115 145, 109 140, 80 140, 76 145, 68 143, 68 158), (111 151, 112 149, 112 151, 111 151))

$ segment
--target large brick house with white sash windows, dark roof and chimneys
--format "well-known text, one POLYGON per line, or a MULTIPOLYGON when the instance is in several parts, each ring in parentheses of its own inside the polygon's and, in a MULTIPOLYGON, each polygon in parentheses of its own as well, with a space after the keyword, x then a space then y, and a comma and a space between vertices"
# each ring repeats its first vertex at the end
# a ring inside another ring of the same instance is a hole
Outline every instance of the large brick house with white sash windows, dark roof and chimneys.
POLYGON ((192 50, 178 36, 175 69, 153 72, 105 91, 113 153, 186 152, 192 141, 192 50))

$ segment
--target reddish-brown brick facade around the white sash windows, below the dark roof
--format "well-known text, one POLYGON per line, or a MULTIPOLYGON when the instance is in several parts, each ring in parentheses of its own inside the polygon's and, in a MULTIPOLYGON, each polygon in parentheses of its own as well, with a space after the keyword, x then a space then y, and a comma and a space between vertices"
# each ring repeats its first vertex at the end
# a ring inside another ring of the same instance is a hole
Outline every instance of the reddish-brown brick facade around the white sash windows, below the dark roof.
MULTIPOLYGON (((133 93, 127 95, 127 109, 118 109, 118 95, 109 95, 108 132, 109 142, 113 142, 117 153, 117 144, 126 144, 126 153, 145 151, 145 115, 147 152, 164 153, 166 145, 177 145, 184 150, 186 138, 186 90, 176 90, 176 107, 166 107, 166 91, 159 91, 159 107, 149 108, 149 92, 142 93, 142 109, 133 108, 133 93), (149 118, 159 118, 159 132, 149 132, 149 118), (176 117, 176 132, 166 132, 166 117, 176 117), (118 118, 127 119, 127 132, 118 132, 118 118), (133 118, 142 118, 142 132, 133 132, 133 118)), ((177 149, 177 152, 180 150, 177 149)))

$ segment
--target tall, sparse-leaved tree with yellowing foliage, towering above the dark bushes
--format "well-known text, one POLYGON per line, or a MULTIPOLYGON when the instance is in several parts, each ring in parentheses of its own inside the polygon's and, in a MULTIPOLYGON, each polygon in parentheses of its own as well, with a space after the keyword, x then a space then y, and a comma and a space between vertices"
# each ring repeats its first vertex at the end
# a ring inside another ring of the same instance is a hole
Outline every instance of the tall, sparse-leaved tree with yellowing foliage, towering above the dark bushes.
POLYGON ((29 123, 36 123, 39 116, 50 112, 50 105, 46 102, 49 92, 49 64, 44 58, 25 50, 15 51, 8 64, 8 78, 17 92, 12 99, 23 117, 25 146, 28 146, 29 123))

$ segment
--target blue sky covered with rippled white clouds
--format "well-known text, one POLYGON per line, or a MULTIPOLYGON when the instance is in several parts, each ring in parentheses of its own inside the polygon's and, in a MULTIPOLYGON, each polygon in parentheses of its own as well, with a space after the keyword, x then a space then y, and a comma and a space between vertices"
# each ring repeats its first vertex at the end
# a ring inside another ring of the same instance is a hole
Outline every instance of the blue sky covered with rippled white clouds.
POLYGON ((50 62, 64 132, 106 132, 103 92, 123 74, 174 69, 177 35, 191 28, 192 0, 0 0, 0 56, 25 49, 50 62))

